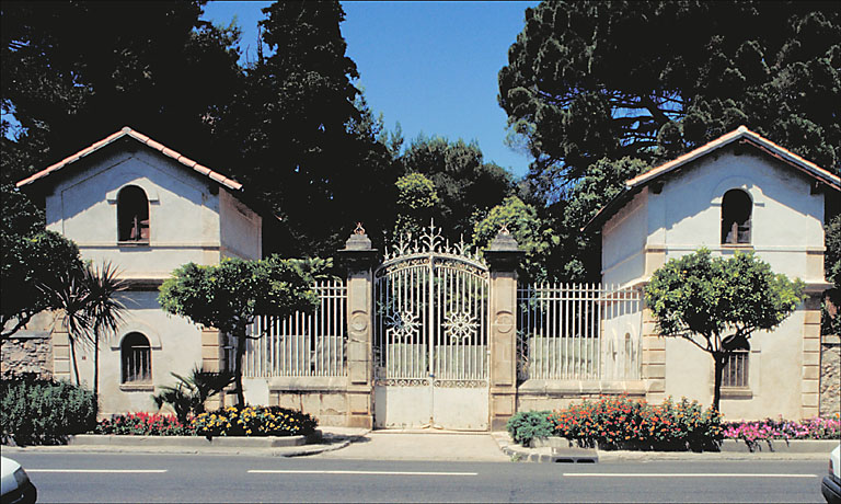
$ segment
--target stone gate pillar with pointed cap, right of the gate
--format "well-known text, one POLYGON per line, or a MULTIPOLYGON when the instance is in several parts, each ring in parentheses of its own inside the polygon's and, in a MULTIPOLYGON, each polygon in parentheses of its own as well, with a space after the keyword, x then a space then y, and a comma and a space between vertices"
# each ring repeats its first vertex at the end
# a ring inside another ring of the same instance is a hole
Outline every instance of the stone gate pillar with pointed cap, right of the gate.
POLYGON ((485 251, 491 267, 491 431, 504 431, 517 411, 517 265, 523 254, 505 228, 485 251))

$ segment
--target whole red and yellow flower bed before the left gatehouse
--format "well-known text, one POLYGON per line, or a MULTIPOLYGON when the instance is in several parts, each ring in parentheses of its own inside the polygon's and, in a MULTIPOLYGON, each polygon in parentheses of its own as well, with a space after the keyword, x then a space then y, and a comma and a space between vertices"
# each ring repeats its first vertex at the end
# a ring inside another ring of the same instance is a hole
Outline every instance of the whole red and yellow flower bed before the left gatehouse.
POLYGON ((318 422, 309 414, 279 406, 229 406, 191 417, 185 425, 175 415, 128 413, 96 423, 94 434, 136 436, 306 436, 318 422))

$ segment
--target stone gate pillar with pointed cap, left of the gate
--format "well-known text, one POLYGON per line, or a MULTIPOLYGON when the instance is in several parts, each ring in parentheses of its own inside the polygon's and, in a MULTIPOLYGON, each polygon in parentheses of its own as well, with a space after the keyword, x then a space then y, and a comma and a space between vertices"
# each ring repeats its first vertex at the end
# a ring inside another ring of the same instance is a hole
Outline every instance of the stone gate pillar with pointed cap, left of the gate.
POLYGON ((347 267, 347 426, 373 427, 372 266, 377 249, 361 224, 338 251, 347 267))

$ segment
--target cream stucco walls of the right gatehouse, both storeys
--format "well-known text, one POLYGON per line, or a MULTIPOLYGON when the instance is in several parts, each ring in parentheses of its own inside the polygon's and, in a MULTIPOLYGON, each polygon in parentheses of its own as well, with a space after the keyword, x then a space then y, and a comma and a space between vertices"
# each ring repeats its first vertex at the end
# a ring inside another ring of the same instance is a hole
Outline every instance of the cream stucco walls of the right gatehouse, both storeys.
MULTIPOLYGON (((776 273, 807 283, 823 282, 823 194, 813 194, 810 179, 797 170, 752 149, 729 146, 681 167, 660 182, 659 191, 644 188, 606 222, 604 282, 646 279, 665 261, 702 245, 724 255, 754 250, 776 273), (749 247, 721 244, 722 197, 731 188, 746 191, 753 203, 749 247), (644 274, 621 260, 637 253, 645 255, 644 274)), ((807 383, 806 375, 811 371, 807 373, 804 360, 808 346, 806 313, 802 306, 772 334, 751 337, 750 390, 723 394, 721 405, 728 419, 777 414, 797 419, 810 411, 806 408, 810 399, 806 398, 815 391, 809 388, 814 383, 807 383)), ((667 339, 664 382, 666 396, 686 396, 710 404, 712 358, 689 342, 667 339)))

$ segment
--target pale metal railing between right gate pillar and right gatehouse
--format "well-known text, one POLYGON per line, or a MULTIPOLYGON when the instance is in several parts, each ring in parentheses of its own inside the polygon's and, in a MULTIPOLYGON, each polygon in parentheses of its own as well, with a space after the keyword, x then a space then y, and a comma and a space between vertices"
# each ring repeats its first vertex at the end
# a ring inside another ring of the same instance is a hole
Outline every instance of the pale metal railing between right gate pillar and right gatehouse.
POLYGON ((539 284, 517 290, 518 379, 638 379, 640 290, 539 284))

